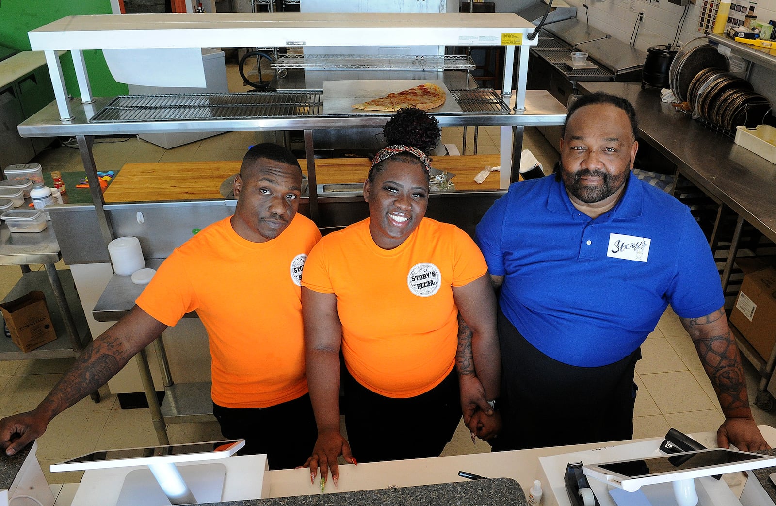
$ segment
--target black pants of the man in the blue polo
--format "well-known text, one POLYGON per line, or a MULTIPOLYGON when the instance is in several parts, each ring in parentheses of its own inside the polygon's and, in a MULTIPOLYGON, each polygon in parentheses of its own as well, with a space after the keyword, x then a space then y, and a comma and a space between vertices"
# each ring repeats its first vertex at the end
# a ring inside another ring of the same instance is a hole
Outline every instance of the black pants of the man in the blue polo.
POLYGON ((497 322, 504 428, 491 442, 494 450, 633 437, 640 349, 608 366, 569 366, 534 348, 501 310, 497 322))

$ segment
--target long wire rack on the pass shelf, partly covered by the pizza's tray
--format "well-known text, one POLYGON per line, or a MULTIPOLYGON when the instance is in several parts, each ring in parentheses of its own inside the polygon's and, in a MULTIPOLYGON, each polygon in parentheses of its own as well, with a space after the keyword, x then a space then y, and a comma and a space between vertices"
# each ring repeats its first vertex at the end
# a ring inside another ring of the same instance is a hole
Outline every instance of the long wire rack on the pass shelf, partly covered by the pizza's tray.
MULTIPOLYGON (((450 90, 450 94, 464 113, 511 113, 501 95, 490 88, 450 90)), ((322 110, 323 90, 121 95, 100 109, 89 123, 316 117, 322 116, 322 110)))

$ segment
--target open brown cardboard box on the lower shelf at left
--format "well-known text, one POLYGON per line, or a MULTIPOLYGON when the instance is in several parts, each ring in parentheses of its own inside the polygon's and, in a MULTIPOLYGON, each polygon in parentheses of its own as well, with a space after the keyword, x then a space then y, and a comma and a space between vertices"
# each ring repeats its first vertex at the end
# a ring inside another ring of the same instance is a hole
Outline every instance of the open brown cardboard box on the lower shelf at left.
POLYGON ((0 310, 11 332, 11 339, 25 353, 57 338, 46 297, 40 290, 0 304, 0 310))

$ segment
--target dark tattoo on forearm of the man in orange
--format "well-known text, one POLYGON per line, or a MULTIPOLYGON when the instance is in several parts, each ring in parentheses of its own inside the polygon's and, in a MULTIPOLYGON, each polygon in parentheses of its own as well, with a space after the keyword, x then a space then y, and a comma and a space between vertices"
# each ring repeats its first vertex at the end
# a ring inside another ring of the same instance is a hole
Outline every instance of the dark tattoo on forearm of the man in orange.
POLYGON ((90 342, 75 359, 73 366, 62 376, 44 400, 44 404, 61 411, 99 389, 126 365, 128 356, 120 338, 103 334, 90 342))

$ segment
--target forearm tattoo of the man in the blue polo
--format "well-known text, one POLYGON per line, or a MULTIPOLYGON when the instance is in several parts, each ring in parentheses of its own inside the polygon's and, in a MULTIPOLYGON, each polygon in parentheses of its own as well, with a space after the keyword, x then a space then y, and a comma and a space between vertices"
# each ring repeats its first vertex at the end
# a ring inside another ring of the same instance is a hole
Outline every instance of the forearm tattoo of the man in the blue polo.
POLYGON ((722 411, 735 411, 749 407, 746 379, 741 367, 741 359, 725 322, 725 331, 718 334, 709 332, 706 325, 713 325, 725 318, 722 310, 700 318, 683 318, 682 323, 690 332, 695 349, 698 350, 709 379, 717 391, 722 411))

